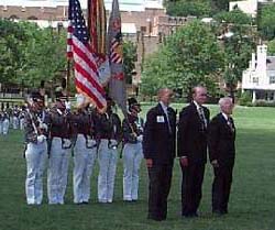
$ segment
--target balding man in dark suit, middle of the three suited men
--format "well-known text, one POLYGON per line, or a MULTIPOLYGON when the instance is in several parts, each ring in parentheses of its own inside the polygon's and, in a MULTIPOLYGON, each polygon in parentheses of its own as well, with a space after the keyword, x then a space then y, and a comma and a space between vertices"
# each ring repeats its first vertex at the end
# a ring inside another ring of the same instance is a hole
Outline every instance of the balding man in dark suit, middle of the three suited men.
POLYGON ((184 108, 178 123, 178 156, 183 172, 182 215, 197 217, 201 199, 201 185, 207 162, 207 127, 209 110, 202 106, 207 89, 195 87, 193 102, 184 108))

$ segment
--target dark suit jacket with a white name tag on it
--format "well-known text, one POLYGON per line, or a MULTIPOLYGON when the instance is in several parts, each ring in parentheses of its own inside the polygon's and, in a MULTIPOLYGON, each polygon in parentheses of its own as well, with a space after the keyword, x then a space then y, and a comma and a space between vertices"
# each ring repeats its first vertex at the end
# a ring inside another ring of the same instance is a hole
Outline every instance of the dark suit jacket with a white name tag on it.
POLYGON ((175 157, 176 112, 168 108, 170 131, 167 117, 158 103, 146 116, 143 133, 143 153, 145 158, 152 158, 153 164, 173 164, 175 157))

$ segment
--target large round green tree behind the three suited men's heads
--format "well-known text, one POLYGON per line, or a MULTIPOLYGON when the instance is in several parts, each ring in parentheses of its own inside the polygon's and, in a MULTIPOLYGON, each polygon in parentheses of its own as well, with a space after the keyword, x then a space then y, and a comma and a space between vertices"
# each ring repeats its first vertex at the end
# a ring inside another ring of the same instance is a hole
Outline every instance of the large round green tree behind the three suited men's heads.
POLYGON ((168 37, 160 53, 147 59, 142 85, 168 86, 187 95, 196 85, 213 89, 217 73, 223 66, 222 59, 211 29, 195 20, 168 37))

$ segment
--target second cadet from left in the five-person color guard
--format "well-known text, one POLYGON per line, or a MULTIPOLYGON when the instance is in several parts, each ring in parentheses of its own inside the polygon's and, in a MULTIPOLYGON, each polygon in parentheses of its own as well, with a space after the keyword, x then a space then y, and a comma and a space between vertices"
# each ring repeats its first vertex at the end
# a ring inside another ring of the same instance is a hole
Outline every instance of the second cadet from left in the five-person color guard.
POLYGON ((72 114, 66 112, 62 92, 56 92, 56 103, 51 114, 51 151, 47 172, 48 204, 64 204, 72 147, 72 114))

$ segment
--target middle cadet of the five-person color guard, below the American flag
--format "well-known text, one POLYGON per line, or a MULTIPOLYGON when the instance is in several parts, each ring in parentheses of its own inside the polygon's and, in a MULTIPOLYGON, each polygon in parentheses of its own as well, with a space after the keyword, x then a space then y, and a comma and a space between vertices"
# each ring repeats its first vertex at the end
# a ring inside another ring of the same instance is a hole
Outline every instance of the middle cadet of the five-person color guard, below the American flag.
POLYGON ((97 158, 97 141, 94 111, 82 96, 78 97, 78 111, 74 116, 74 202, 88 204, 90 198, 90 177, 97 158))

